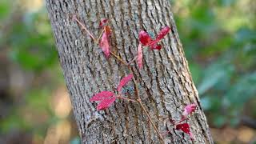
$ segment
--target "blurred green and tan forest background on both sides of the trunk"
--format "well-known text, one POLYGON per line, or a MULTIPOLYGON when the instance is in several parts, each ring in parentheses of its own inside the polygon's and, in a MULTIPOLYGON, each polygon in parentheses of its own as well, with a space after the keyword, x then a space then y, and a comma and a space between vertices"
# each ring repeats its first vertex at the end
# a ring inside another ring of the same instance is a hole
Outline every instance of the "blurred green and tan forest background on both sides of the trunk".
MULTIPOLYGON (((256 143, 256 1, 171 0, 216 143, 256 143)), ((79 143, 43 0, 0 1, 0 143, 79 143)))

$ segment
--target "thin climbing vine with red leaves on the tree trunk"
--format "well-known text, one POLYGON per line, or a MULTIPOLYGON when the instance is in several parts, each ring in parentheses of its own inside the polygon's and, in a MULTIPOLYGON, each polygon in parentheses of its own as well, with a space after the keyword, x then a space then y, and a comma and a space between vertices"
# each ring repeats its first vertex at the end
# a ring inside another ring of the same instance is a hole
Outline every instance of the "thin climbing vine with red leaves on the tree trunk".
MULTIPOLYGON (((102 52, 106 56, 106 60, 110 57, 110 54, 114 56, 118 60, 118 62, 121 62, 128 70, 130 70, 130 74, 128 74, 126 77, 122 78, 117 86, 117 93, 113 91, 102 91, 98 94, 94 94, 92 98, 90 98, 90 102, 99 102, 97 106, 97 110, 106 110, 109 108, 116 99, 122 99, 130 102, 138 102, 138 104, 142 107, 142 110, 146 114, 147 118, 150 120, 150 124, 154 127, 155 132, 158 134, 158 137, 162 142, 164 142, 164 136, 168 134, 168 130, 166 130, 166 134, 164 132, 160 132, 155 126, 148 110, 146 110, 146 107, 143 105, 141 100, 141 95, 138 89, 138 80, 134 78, 133 71, 131 70, 131 63, 135 62, 137 60, 138 70, 142 70, 143 67, 143 50, 146 48, 150 48, 150 50, 161 50, 162 45, 158 44, 170 32, 170 27, 165 26, 162 28, 162 30, 158 33, 155 39, 150 37, 150 34, 148 34, 145 30, 141 30, 138 34, 138 54, 134 56, 133 60, 130 62, 126 62, 121 57, 119 57, 117 54, 114 54, 110 50, 110 35, 111 35, 111 28, 110 26, 107 26, 108 19, 104 18, 101 22, 99 22, 99 28, 101 28, 102 32, 98 36, 98 38, 95 38, 95 36, 80 22, 76 15, 73 15, 72 17, 74 22, 78 22, 78 25, 81 26, 82 30, 86 31, 86 34, 90 35, 90 38, 94 40, 96 44, 100 46, 102 49, 102 52), (126 84, 130 81, 134 82, 135 91, 136 91, 136 98, 126 98, 122 94, 122 87, 126 86, 126 84)), ((189 134, 190 139, 193 141, 194 135, 190 132, 190 125, 187 122, 183 122, 188 118, 190 114, 192 114, 196 110, 195 104, 187 105, 182 113, 182 118, 179 121, 175 121, 174 119, 170 119, 170 123, 173 124, 174 130, 182 130, 184 133, 189 134)))

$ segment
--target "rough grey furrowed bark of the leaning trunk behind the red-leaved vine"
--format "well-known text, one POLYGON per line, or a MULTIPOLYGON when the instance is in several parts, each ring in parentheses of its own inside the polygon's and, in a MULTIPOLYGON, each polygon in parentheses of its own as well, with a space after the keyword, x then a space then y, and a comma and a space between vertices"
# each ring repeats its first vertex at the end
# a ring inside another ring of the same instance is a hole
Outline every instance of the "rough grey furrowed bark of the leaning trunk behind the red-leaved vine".
POLYGON ((99 21, 109 18, 111 50, 126 61, 137 54, 139 30, 156 34, 162 26, 170 26, 171 33, 162 41, 163 49, 144 50, 143 70, 133 66, 142 102, 158 130, 170 130, 166 143, 193 143, 187 134, 173 130, 166 117, 179 119, 186 104, 196 103, 198 110, 188 119, 194 143, 213 143, 169 0, 46 0, 46 6, 83 143, 161 141, 138 103, 118 100, 110 109, 99 112, 89 102, 99 91, 115 90, 128 71, 114 58, 106 60, 98 45, 72 21, 72 14, 78 15, 94 35, 100 34, 99 21))

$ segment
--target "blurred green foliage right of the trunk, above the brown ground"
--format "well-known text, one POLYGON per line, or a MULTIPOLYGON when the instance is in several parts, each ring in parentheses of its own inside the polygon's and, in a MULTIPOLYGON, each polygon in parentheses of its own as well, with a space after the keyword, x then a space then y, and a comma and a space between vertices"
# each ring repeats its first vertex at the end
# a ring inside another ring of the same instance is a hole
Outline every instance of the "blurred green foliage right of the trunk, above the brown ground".
POLYGON ((256 118, 256 2, 182 1, 176 22, 212 126, 256 118))

